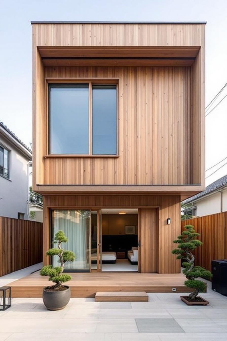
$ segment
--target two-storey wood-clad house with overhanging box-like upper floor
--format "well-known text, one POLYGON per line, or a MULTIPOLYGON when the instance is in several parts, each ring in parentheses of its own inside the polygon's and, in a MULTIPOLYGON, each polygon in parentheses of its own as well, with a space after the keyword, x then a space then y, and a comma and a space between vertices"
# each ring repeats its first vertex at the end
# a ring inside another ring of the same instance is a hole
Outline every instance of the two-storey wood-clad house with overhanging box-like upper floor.
POLYGON ((32 30, 44 264, 63 229, 68 271, 180 272, 180 202, 205 189, 205 23, 32 30))

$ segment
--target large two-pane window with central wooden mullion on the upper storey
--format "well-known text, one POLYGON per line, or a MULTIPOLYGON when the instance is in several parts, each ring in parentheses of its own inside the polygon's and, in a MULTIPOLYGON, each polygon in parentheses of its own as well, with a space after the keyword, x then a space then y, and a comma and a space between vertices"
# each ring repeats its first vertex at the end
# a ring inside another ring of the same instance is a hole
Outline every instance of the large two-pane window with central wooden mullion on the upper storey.
POLYGON ((50 154, 116 155, 116 145, 116 85, 49 85, 50 154))

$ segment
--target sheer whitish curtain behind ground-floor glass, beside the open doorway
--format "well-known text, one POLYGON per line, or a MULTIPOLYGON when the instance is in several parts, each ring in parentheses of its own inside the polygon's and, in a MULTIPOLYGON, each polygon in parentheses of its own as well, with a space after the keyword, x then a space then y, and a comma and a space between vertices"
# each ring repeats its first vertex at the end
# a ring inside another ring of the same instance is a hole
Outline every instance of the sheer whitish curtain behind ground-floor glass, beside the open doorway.
MULTIPOLYGON (((74 262, 66 262, 65 269, 89 270, 89 234, 91 213, 88 210, 52 211, 52 238, 57 231, 64 231, 68 241, 62 246, 76 254, 74 262)), ((53 266, 58 266, 53 257, 53 266)))

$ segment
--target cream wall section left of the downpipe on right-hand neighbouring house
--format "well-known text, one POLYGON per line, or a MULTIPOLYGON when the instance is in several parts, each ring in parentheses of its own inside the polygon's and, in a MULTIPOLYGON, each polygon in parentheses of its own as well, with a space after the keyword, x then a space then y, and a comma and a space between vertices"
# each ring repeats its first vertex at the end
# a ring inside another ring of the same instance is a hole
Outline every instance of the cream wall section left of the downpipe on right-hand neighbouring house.
POLYGON ((195 203, 196 216, 208 216, 209 214, 221 212, 221 193, 216 192, 195 203))

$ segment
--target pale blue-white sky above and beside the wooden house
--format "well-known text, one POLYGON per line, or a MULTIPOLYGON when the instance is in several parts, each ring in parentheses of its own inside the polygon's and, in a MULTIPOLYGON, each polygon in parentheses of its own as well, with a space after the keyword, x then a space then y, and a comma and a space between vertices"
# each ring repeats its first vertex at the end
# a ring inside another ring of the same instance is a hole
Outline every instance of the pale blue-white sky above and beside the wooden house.
MULTIPOLYGON (((27 145, 32 142, 31 20, 207 21, 206 105, 227 83, 226 0, 0 0, 0 121, 27 145)), ((213 107, 226 94, 227 87, 213 107)), ((227 97, 206 118, 206 169, 225 157, 227 97)), ((226 164, 209 176, 226 162, 206 172, 206 185, 227 174, 226 164)))

